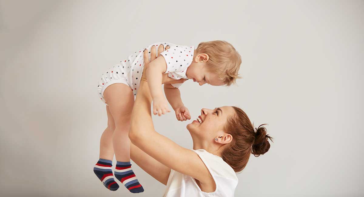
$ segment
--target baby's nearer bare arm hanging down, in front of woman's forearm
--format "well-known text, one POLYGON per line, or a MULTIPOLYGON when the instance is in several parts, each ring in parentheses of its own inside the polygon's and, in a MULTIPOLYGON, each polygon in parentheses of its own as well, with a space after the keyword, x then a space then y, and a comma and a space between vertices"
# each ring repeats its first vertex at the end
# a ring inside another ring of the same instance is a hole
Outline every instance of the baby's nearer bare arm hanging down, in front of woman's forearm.
POLYGON ((170 112, 168 103, 163 96, 162 73, 167 70, 167 64, 163 56, 157 57, 146 69, 150 94, 153 99, 153 114, 158 116, 170 112))

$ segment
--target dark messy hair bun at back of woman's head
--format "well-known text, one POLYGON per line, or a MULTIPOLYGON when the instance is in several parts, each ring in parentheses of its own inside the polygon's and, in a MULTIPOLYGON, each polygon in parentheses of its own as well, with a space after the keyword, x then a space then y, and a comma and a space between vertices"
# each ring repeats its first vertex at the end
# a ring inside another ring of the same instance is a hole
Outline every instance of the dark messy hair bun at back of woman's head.
POLYGON ((255 138, 252 146, 252 154, 254 154, 254 156, 256 157, 259 157, 261 154, 268 152, 270 148, 268 138, 270 141, 272 141, 272 137, 267 134, 267 129, 263 125, 266 124, 258 126, 258 128, 255 128, 256 132, 254 132, 255 138))

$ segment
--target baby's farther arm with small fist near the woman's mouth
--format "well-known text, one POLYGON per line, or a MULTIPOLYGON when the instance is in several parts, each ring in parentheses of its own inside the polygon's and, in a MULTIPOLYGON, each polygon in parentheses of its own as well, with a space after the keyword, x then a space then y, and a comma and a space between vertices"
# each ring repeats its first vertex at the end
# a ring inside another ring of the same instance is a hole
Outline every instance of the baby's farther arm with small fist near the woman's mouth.
POLYGON ((169 104, 171 104, 173 110, 176 113, 177 120, 190 120, 190 112, 182 102, 181 92, 179 91, 179 89, 173 87, 173 85, 171 84, 164 84, 164 93, 167 97, 169 104))

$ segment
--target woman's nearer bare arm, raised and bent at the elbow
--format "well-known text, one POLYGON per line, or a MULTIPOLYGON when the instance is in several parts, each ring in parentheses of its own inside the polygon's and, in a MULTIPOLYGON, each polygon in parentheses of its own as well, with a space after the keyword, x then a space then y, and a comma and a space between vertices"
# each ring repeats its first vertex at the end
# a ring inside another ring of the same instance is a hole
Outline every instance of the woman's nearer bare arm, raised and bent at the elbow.
MULTIPOLYGON (((148 52, 145 51, 144 54, 146 56, 148 52)), ((129 131, 131 142, 163 165, 194 177, 201 184, 213 181, 209 170, 193 150, 179 146, 154 130, 151 102, 152 98, 147 81, 145 77, 142 77, 131 115, 129 131)))

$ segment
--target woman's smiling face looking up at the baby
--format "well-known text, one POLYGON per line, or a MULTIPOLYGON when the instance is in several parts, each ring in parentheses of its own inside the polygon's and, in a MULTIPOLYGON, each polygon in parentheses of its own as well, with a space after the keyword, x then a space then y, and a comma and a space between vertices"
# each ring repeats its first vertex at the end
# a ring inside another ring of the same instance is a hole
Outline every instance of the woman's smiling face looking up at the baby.
POLYGON ((222 136, 223 127, 227 119, 235 114, 232 106, 223 106, 215 109, 201 109, 201 115, 187 125, 193 140, 214 141, 214 138, 222 136), (201 119, 200 123, 198 119, 201 119))

